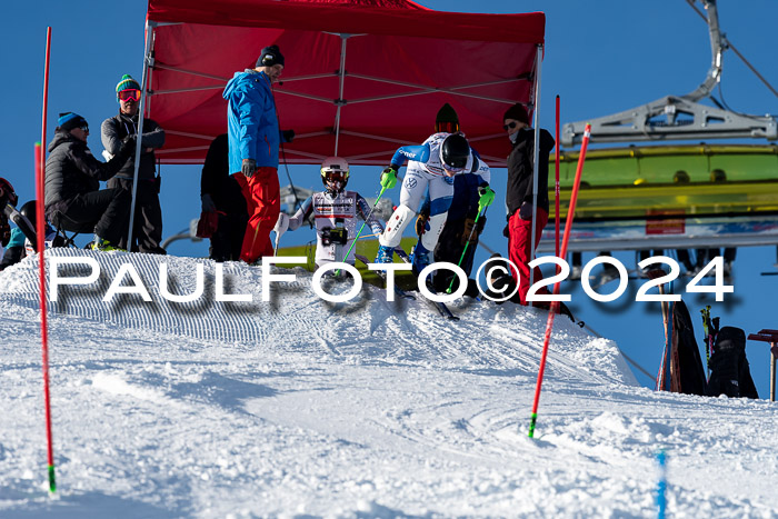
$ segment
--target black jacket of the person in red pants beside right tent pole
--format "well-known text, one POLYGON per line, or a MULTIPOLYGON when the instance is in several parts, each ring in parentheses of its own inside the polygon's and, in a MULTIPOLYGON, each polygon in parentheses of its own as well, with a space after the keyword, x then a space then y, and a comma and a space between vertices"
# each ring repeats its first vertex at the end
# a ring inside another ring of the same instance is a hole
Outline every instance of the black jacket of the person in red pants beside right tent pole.
MULTIPOLYGON (((538 207, 548 211, 548 154, 553 149, 553 137, 540 129, 540 157, 538 170, 538 207)), ((508 156, 508 186, 506 206, 508 217, 522 202, 532 203, 532 160, 535 159, 535 130, 519 130, 513 150, 508 156)))

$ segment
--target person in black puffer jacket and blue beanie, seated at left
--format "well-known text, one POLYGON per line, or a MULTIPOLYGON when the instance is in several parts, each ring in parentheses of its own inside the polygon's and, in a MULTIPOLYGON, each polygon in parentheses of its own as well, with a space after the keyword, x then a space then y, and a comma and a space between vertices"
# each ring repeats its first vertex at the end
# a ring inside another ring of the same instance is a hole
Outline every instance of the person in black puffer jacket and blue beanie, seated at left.
POLYGON ((131 197, 127 190, 100 190, 100 180, 113 177, 134 151, 130 137, 116 154, 100 162, 87 147, 89 124, 73 112, 60 113, 46 159, 46 214, 57 228, 81 232, 94 229, 92 249, 112 250, 127 231, 131 197))

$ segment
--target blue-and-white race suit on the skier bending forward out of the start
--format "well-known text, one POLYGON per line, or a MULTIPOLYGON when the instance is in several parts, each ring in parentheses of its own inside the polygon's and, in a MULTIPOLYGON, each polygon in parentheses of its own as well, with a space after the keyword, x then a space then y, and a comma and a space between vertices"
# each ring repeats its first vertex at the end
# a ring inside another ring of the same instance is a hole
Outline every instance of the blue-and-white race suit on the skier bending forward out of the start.
MULTIPOLYGON (((402 232, 416 216, 429 188, 429 230, 421 236, 421 244, 428 251, 435 250, 453 197, 453 177, 446 174, 440 162, 440 146, 449 134, 433 133, 421 146, 403 146, 395 152, 391 158, 395 169, 400 169, 406 159, 408 168, 400 189, 400 204, 387 220, 387 229, 378 239, 381 246, 395 248, 400 244, 402 232)), ((477 174, 480 177, 479 184, 488 184, 491 180, 491 170, 472 149, 465 170, 457 174, 477 174)))

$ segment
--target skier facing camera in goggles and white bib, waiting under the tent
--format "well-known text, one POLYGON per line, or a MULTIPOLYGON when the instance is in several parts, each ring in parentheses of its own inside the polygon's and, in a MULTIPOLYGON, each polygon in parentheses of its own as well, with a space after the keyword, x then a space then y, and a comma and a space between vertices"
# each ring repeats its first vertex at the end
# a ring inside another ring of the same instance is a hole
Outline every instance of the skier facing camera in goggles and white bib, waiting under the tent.
POLYGON ((357 218, 367 221, 372 232, 383 231, 383 226, 370 213, 370 206, 356 191, 346 191, 349 181, 349 163, 340 157, 329 157, 321 163, 321 182, 325 190, 310 196, 295 216, 281 212, 276 222, 276 236, 300 228, 310 214, 316 222, 316 265, 331 261, 355 263, 355 254, 346 258, 357 236, 357 218))

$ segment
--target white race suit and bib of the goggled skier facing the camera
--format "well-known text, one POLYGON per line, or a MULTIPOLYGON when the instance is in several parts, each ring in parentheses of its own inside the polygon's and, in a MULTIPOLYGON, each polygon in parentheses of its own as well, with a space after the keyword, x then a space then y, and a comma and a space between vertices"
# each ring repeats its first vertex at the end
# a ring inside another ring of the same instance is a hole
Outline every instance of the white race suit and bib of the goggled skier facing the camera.
MULTIPOLYGON (((367 221, 372 233, 383 232, 383 226, 370 213, 370 206, 356 191, 341 191, 332 194, 329 191, 313 193, 308 198, 293 217, 289 218, 289 230, 293 231, 303 224, 313 213, 316 222, 316 265, 321 267, 331 261, 343 261, 346 252, 357 237, 357 217, 367 221)), ((368 234, 368 232, 362 232, 368 234)), ((356 247, 355 247, 356 249, 356 247)), ((346 259, 355 263, 353 250, 346 259)))

